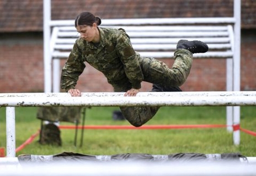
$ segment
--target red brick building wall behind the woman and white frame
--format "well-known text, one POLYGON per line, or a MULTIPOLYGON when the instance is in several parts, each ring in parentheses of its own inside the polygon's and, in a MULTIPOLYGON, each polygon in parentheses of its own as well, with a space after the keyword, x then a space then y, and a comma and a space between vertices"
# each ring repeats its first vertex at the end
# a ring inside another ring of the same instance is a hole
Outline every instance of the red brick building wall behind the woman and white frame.
MULTIPOLYGON (((256 90, 256 32, 242 31, 241 90, 256 90)), ((17 33, 0 36, 0 92, 43 92, 42 34, 17 33)), ((163 59, 169 67, 172 59, 163 59)), ((61 67, 65 61, 61 61, 61 67)), ((86 64, 77 88, 82 92, 113 91, 103 74, 86 64)), ((141 91, 151 84, 143 83, 141 91)), ((195 59, 183 91, 225 91, 226 59, 195 59)), ((63 91, 63 90, 62 90, 63 91)))

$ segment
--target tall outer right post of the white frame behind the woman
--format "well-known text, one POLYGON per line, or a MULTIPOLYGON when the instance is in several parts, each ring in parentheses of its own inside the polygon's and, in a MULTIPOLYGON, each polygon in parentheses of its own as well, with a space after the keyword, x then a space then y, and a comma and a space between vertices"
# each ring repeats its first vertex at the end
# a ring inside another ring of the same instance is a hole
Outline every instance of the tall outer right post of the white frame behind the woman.
MULTIPOLYGON (((241 0, 234 0, 234 62, 233 62, 233 89, 240 91, 240 58, 241 58, 241 0)), ((240 124, 240 107, 233 107, 233 125, 240 124)), ((233 131, 234 145, 240 144, 240 130, 233 131)))

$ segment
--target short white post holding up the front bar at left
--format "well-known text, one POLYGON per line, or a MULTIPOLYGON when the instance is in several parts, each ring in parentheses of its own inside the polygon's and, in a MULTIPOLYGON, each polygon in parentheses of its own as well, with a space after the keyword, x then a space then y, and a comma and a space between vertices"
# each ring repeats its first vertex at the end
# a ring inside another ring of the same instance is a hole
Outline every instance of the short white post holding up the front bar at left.
POLYGON ((15 157, 15 107, 6 107, 6 156, 15 157))

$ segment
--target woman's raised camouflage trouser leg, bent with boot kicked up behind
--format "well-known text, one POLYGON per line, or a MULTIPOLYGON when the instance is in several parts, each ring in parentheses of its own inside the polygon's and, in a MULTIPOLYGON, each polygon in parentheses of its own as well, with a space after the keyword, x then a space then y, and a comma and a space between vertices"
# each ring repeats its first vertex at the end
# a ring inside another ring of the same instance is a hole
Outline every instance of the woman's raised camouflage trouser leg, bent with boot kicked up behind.
POLYGON ((188 78, 192 61, 193 54, 182 49, 174 52, 172 68, 154 58, 142 58, 139 62, 144 81, 162 86, 180 86, 188 78))

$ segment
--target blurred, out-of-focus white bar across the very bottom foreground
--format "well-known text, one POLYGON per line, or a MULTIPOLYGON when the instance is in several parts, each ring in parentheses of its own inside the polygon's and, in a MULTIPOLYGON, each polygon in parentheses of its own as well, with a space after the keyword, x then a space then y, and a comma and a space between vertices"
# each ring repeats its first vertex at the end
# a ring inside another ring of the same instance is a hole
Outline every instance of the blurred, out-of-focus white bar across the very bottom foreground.
POLYGON ((35 176, 35 175, 122 175, 122 176, 148 176, 148 175, 243 175, 256 174, 255 164, 245 164, 233 161, 171 161, 171 162, 148 162, 148 161, 119 161, 96 162, 96 161, 55 161, 55 162, 30 162, 24 163, 20 168, 6 167, 0 175, 12 176, 35 176))

